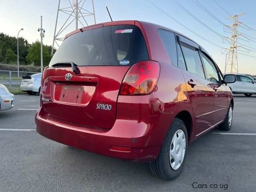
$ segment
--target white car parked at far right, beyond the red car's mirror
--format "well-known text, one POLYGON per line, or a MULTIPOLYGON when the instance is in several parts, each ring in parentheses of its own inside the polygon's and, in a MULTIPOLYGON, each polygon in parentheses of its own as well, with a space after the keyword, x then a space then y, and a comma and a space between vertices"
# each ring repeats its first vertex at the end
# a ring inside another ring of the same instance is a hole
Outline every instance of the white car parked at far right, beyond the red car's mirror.
POLYGON ((256 94, 256 81, 248 75, 234 74, 236 82, 228 84, 232 93, 244 94, 246 97, 256 94))

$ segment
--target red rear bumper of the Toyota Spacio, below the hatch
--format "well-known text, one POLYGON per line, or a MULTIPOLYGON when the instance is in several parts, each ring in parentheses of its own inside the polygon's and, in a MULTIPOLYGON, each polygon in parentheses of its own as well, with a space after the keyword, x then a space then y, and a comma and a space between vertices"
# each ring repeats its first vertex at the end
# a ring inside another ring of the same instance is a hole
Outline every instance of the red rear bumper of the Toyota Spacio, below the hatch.
POLYGON ((36 130, 42 136, 82 150, 138 162, 154 161, 173 114, 152 117, 154 124, 143 121, 117 119, 112 129, 98 129, 68 124, 42 115, 42 108, 35 116, 36 130), (159 126, 161 125, 161 126, 159 126), (164 128, 167 126, 167 128, 164 128), (111 146, 131 148, 130 152, 111 150, 111 146))

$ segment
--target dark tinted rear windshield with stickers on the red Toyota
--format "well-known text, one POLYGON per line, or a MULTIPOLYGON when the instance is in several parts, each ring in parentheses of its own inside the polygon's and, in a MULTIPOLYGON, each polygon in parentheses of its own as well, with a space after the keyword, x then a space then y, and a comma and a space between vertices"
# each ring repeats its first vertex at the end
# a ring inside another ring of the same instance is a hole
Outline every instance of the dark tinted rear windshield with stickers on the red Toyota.
POLYGON ((133 25, 115 25, 78 32, 66 38, 49 67, 58 62, 74 62, 78 66, 131 66, 141 60, 148 60, 141 30, 133 25))

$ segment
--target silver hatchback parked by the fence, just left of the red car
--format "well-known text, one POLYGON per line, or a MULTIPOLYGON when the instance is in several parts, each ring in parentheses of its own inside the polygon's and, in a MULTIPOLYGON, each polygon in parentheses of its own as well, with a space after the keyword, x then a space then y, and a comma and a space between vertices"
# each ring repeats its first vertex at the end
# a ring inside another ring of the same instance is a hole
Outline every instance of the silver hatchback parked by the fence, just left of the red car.
POLYGON ((42 73, 23 76, 20 90, 27 92, 29 95, 40 93, 42 73))

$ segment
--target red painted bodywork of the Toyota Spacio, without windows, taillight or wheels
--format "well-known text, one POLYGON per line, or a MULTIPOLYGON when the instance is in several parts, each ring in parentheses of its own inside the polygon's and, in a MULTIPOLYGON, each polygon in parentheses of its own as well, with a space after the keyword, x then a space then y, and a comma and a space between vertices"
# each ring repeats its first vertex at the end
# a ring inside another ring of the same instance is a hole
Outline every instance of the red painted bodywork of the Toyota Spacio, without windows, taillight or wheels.
POLYGON ((154 62, 159 64, 153 92, 121 94, 124 76, 132 66, 77 66, 77 75, 71 67, 46 67, 41 104, 35 116, 39 134, 97 154, 152 162, 175 117, 184 121, 188 142, 224 121, 229 104, 233 105, 228 86, 214 84, 172 65, 158 30, 186 38, 178 32, 148 22, 116 21, 78 29, 68 34, 64 42, 81 31, 115 25, 133 25, 141 30, 148 62, 153 66, 154 62), (70 81, 65 79, 68 73, 72 74, 70 81))

